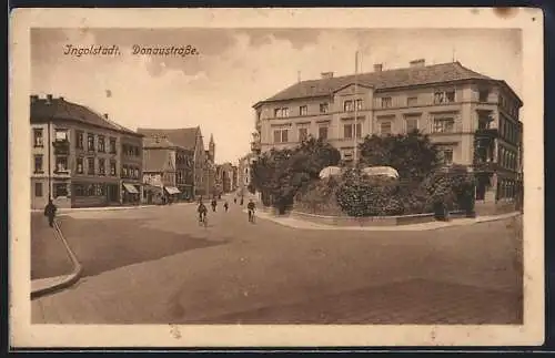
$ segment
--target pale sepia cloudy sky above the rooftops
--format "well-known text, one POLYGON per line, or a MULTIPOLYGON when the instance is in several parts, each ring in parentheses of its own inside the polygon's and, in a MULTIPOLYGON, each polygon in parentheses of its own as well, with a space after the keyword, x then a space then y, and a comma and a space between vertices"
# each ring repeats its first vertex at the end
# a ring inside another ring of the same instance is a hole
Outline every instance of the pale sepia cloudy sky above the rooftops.
POLYGON ((32 29, 32 94, 63 96, 131 130, 201 126, 216 163, 250 151, 252 105, 301 80, 460 61, 505 80, 522 98, 522 37, 511 29, 32 29), (120 55, 73 57, 65 45, 118 45, 120 55), (186 47, 190 57, 132 54, 186 47))

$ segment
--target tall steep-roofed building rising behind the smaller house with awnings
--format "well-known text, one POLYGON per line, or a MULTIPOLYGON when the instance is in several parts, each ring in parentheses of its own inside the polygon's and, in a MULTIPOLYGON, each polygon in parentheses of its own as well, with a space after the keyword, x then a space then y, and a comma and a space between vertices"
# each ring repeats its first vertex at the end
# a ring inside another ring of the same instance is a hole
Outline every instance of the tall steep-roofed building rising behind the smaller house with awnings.
POLYGON ((181 178, 181 184, 178 180, 176 185, 182 193, 190 194, 188 198, 212 193, 215 167, 209 154, 210 151, 214 153, 215 145, 211 137, 212 144, 209 145, 209 151, 204 150, 204 141, 199 126, 188 129, 138 129, 137 131, 147 137, 164 137, 172 145, 180 149, 179 158, 181 160, 175 164, 178 168, 175 174, 179 175, 178 173, 182 171, 185 178, 184 182, 181 178))

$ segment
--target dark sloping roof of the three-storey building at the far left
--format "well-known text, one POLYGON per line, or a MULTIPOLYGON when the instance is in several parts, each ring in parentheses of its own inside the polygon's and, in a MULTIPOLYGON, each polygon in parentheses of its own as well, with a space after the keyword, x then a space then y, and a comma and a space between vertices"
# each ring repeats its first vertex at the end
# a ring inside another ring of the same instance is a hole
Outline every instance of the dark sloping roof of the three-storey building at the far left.
POLYGON ((65 101, 63 98, 31 100, 31 123, 50 120, 65 120, 89 124, 115 132, 141 136, 122 125, 117 124, 88 106, 65 101))

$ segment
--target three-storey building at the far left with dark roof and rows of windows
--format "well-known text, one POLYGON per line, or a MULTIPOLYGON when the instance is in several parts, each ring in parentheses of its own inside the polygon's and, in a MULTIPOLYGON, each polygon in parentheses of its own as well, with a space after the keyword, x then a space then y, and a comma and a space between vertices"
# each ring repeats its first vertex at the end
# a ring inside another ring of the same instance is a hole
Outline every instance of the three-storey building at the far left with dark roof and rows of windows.
POLYGON ((31 95, 30 108, 32 208, 43 208, 49 197, 59 207, 119 205, 128 183, 141 192, 140 182, 122 173, 130 163, 133 176, 142 175, 141 151, 128 160, 121 150, 122 143, 140 143, 140 134, 50 94, 31 95))

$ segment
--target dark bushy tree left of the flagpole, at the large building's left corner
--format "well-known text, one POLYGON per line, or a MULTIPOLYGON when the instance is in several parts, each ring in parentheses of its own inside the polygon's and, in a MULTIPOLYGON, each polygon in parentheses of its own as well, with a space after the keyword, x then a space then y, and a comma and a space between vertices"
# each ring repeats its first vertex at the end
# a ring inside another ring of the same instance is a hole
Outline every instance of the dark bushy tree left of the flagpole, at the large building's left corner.
POLYGON ((264 205, 281 213, 293 204, 299 192, 319 180, 320 172, 336 165, 340 152, 321 140, 309 139, 292 150, 271 150, 253 164, 253 185, 262 193, 264 205))

